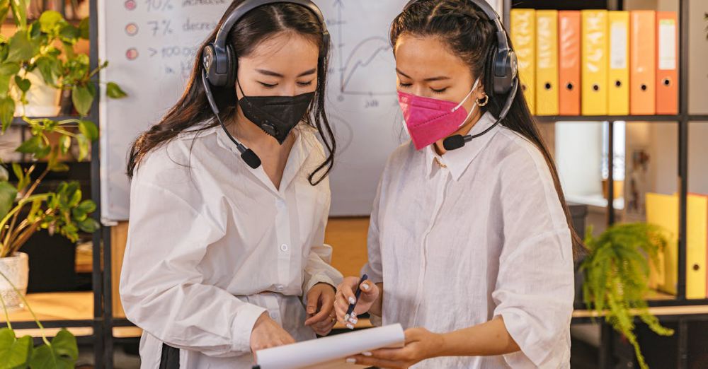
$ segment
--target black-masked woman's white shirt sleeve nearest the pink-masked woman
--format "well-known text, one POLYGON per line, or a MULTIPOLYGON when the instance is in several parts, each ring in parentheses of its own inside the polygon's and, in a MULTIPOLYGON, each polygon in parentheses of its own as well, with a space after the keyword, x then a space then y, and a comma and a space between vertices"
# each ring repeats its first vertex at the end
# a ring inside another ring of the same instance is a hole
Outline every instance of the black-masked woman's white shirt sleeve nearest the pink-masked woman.
POLYGON ((324 243, 324 231, 327 228, 330 199, 326 201, 326 209, 315 231, 313 245, 310 248, 305 264, 304 281, 302 283, 302 301, 307 305, 307 292, 317 283, 327 283, 334 288, 342 281, 342 274, 331 266, 332 247, 324 243))

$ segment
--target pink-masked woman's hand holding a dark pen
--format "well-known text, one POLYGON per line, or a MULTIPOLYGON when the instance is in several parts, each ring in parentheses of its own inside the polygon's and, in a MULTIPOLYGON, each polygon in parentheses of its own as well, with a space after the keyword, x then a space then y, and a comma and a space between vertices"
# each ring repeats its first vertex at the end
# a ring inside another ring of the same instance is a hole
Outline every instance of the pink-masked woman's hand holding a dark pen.
POLYGON ((379 298, 379 288, 371 281, 361 283, 361 295, 357 301, 354 296, 359 277, 347 277, 337 287, 337 294, 334 300, 334 310, 337 313, 337 320, 346 325, 349 329, 354 329, 354 324, 358 322, 357 316, 369 311, 372 305, 379 298), (356 303, 352 316, 347 316, 350 303, 356 303))

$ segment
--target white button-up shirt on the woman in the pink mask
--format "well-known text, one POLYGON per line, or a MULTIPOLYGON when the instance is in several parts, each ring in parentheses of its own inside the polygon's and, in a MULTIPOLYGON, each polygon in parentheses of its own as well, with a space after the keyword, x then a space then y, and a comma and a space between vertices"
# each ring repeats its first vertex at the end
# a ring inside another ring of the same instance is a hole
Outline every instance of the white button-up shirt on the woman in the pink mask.
MULTIPOLYGON (((491 124, 484 114, 472 134, 491 124)), ((399 147, 379 184, 368 252, 363 272, 384 283, 384 324, 443 333, 501 316, 521 348, 416 368, 569 368, 571 236, 542 153, 510 129, 442 157, 399 147)))

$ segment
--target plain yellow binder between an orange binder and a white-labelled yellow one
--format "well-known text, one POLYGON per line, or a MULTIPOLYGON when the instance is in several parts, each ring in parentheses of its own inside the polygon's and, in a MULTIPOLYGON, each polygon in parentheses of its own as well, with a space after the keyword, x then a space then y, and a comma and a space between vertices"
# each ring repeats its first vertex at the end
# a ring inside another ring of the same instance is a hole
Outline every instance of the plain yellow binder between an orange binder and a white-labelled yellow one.
POLYGON ((583 57, 581 111, 607 115, 607 11, 581 11, 583 57))

